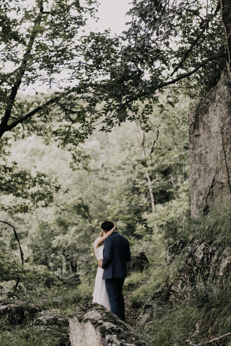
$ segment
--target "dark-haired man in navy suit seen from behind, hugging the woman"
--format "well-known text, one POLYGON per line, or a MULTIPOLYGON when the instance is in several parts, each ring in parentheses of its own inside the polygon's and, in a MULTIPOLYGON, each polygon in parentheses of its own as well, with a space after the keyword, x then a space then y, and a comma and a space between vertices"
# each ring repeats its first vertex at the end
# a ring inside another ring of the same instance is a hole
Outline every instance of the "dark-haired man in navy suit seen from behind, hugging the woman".
MULTIPOLYGON (((113 222, 108 220, 101 225, 106 233, 113 227, 113 222)), ((103 260, 99 260, 99 266, 104 269, 103 280, 111 311, 123 321, 125 321, 125 310, 122 290, 127 276, 128 261, 131 261, 129 242, 127 238, 114 231, 105 239, 103 260)))

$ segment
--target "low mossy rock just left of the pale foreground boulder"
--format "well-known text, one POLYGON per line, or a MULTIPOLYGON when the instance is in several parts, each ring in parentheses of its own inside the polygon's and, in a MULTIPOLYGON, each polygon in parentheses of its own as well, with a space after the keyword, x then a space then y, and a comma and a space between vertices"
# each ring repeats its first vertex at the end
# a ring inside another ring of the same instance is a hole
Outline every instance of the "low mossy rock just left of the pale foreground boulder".
POLYGON ((68 336, 68 319, 63 318, 55 310, 42 311, 30 324, 33 329, 39 330, 45 335, 52 335, 55 345, 67 346, 70 344, 68 336))

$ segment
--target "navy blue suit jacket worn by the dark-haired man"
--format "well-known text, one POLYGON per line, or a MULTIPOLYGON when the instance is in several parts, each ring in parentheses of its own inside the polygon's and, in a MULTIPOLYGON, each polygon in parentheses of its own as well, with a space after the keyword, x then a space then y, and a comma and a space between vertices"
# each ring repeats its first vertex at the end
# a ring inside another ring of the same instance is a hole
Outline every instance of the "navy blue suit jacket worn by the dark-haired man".
POLYGON ((128 261, 131 261, 129 242, 127 238, 114 231, 104 242, 103 280, 127 276, 128 261))

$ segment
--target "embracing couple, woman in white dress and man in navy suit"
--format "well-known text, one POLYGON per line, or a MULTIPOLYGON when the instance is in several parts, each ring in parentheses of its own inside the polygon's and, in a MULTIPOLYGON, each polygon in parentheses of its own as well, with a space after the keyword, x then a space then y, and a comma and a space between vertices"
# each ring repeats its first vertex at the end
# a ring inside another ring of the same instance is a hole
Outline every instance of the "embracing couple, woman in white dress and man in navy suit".
POLYGON ((112 221, 104 221, 101 233, 94 242, 98 270, 93 292, 93 302, 103 305, 125 321, 124 279, 127 276, 127 262, 131 260, 127 238, 119 234, 112 221))

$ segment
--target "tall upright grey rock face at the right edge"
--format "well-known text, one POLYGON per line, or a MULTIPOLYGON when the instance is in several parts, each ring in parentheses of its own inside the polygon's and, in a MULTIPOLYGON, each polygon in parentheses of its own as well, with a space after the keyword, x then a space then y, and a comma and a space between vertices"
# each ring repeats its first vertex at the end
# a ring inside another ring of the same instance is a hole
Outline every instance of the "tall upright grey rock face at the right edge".
POLYGON ((231 197, 231 83, 228 74, 189 114, 192 217, 231 197))

